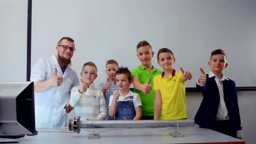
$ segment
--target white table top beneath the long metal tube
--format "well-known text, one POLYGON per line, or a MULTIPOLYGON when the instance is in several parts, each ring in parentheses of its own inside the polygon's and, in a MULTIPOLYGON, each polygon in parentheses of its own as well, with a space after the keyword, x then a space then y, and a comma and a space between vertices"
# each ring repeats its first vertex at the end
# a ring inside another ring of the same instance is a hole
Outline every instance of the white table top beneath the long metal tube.
POLYGON ((195 127, 180 127, 179 133, 184 137, 172 137, 175 128, 111 128, 111 129, 81 129, 80 134, 62 129, 38 129, 38 135, 21 138, 21 144, 39 143, 245 143, 210 129, 195 127), (89 139, 89 134, 100 134, 100 139, 89 139))

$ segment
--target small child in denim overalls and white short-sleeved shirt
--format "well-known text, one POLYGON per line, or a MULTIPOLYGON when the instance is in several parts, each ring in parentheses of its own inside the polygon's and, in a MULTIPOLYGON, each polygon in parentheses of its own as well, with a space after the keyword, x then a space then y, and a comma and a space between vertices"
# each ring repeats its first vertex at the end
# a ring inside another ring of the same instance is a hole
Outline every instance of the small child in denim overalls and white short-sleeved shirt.
POLYGON ((139 94, 130 91, 132 83, 131 72, 127 68, 119 68, 116 73, 119 90, 113 89, 109 98, 109 116, 115 120, 139 120, 142 116, 141 98, 139 94))

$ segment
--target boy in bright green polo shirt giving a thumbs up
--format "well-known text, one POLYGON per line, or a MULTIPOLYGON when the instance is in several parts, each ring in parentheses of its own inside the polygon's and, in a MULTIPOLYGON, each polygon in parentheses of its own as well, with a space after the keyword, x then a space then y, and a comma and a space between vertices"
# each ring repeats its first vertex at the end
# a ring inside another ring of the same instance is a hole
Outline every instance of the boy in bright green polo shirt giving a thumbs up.
POLYGON ((154 83, 153 78, 162 73, 152 65, 154 51, 148 41, 140 41, 137 45, 137 57, 141 61, 139 67, 131 71, 133 81, 133 92, 141 96, 142 118, 154 119, 154 83))

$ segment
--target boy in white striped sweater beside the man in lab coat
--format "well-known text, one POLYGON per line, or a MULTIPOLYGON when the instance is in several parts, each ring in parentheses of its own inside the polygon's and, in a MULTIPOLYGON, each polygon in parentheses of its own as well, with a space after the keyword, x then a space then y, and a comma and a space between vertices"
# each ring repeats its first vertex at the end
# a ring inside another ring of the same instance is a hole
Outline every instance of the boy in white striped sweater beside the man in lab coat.
POLYGON ((73 87, 71 99, 66 111, 69 113, 75 107, 75 117, 80 116, 81 120, 102 121, 107 116, 104 94, 101 89, 94 87, 94 80, 97 78, 97 67, 92 62, 83 65, 80 73, 79 87, 73 87))

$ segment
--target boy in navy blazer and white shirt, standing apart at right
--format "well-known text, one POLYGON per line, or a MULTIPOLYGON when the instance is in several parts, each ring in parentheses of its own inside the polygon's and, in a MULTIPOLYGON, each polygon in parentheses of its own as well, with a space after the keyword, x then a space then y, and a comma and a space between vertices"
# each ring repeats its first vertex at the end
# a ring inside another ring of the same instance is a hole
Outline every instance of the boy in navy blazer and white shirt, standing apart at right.
POLYGON ((195 123, 219 133, 242 139, 242 127, 239 114, 235 82, 226 78, 223 70, 228 67, 223 50, 214 50, 208 62, 211 71, 201 75, 196 83, 203 99, 195 116, 195 123))

